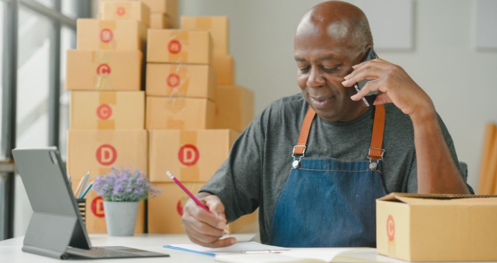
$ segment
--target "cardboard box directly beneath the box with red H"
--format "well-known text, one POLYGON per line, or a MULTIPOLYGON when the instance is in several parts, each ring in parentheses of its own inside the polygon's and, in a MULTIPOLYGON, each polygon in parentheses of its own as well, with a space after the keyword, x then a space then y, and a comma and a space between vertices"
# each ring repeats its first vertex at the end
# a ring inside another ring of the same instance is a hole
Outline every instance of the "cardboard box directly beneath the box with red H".
POLYGON ((208 65, 147 64, 147 95, 214 100, 214 70, 208 65))

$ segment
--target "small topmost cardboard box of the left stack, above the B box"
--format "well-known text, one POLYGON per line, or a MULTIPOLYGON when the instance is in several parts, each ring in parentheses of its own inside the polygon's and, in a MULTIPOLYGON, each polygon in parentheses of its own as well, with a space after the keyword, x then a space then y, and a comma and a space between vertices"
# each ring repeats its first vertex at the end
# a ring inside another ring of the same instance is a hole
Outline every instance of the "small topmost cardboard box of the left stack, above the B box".
POLYGON ((141 1, 105 0, 100 4, 101 19, 136 19, 150 26, 150 8, 141 1))

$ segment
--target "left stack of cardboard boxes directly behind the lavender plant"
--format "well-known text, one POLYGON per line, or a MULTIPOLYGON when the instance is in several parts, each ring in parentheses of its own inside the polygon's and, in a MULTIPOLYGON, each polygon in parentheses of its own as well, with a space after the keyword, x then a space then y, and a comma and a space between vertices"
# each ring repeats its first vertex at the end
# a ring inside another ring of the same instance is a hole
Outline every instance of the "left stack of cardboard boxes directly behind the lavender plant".
MULTIPOLYGON (((149 8, 139 1, 106 1, 101 7, 101 19, 78 19, 77 50, 67 54, 67 170, 74 187, 88 170, 90 180, 113 166, 148 172, 142 51, 149 8)), ((102 198, 93 191, 85 198, 87 231, 105 233, 102 198)), ((143 233, 145 225, 142 201, 135 232, 143 233)))

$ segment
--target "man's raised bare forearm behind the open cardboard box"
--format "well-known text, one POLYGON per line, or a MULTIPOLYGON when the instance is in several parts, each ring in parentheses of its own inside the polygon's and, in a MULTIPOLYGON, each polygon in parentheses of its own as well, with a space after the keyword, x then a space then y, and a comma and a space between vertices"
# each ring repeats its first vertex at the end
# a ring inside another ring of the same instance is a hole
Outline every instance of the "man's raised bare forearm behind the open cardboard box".
POLYGON ((417 112, 411 119, 417 158, 417 192, 470 194, 442 134, 436 112, 417 112))

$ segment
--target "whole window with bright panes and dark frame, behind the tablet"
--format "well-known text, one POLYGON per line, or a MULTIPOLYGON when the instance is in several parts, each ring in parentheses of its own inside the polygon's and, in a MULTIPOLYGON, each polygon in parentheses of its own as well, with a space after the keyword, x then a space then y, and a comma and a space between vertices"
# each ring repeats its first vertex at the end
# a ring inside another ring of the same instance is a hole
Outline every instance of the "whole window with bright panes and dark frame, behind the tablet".
POLYGON ((92 2, 0 0, 0 240, 23 235, 31 215, 22 182, 7 159, 10 144, 58 144, 65 158, 66 50, 75 48, 76 18, 90 17, 92 2))

